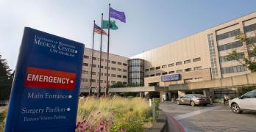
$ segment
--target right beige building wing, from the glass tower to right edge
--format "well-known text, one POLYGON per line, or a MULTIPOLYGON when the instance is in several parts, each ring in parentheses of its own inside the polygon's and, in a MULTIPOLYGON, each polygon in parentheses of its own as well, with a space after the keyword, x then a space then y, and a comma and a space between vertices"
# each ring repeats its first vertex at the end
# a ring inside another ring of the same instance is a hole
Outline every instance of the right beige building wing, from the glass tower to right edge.
POLYGON ((255 59, 248 54, 251 45, 236 40, 235 36, 244 33, 256 43, 256 12, 233 21, 214 26, 192 34, 167 45, 145 51, 132 58, 145 62, 145 86, 184 84, 186 82, 207 81, 251 73, 240 62, 227 59, 233 50, 242 58, 255 59), (176 81, 161 81, 161 76, 180 74, 176 81))

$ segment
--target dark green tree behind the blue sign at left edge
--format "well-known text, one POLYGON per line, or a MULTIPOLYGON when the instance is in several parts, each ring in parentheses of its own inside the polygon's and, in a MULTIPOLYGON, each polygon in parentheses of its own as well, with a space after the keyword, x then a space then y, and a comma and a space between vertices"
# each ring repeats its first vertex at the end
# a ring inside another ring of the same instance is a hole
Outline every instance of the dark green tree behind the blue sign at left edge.
POLYGON ((0 55, 0 100, 8 100, 10 98, 10 90, 13 84, 14 72, 7 65, 6 59, 2 59, 0 55))

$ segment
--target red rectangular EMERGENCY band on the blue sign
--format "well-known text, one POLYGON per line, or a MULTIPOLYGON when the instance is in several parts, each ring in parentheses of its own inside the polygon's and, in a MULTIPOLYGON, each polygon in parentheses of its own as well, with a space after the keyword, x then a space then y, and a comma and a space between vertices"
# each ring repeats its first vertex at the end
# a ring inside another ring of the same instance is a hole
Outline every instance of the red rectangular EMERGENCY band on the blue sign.
POLYGON ((49 70, 38 67, 28 67, 24 87, 74 89, 76 73, 49 70))

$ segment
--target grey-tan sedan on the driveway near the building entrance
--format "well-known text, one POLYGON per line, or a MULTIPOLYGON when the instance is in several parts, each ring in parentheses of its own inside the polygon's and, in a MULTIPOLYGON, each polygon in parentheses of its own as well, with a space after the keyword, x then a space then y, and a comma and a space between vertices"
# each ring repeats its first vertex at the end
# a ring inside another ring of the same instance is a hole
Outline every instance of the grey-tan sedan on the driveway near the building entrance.
POLYGON ((189 104, 191 106, 203 105, 207 106, 210 104, 210 98, 199 94, 188 94, 176 99, 177 105, 179 104, 189 104))

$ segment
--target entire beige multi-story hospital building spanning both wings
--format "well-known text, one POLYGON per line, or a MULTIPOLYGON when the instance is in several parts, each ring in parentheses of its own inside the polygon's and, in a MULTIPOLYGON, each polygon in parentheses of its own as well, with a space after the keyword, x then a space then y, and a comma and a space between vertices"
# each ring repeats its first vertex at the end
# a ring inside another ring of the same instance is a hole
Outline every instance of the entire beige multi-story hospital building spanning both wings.
MULTIPOLYGON (((180 40, 145 51, 130 58, 110 54, 110 84, 139 84, 168 87, 251 73, 227 55, 233 50, 240 58, 255 60, 249 49, 256 43, 256 12, 214 26, 180 40), (236 40, 244 34, 251 44, 236 40), (165 79, 165 78, 171 79, 165 79), (174 78, 174 79, 173 79, 174 78)), ((99 82, 99 51, 93 59, 93 87, 99 82)), ((107 54, 102 54, 102 86, 106 84, 107 54)), ((85 49, 82 87, 90 86, 91 49, 85 49)))

